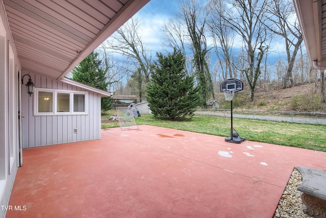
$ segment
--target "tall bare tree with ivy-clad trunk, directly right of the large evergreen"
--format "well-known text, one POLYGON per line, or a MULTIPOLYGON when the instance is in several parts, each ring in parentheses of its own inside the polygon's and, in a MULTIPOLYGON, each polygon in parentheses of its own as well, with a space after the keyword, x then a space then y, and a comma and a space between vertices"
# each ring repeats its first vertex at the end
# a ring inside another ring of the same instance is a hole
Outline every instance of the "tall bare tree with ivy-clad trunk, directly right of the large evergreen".
POLYGON ((202 106, 213 96, 213 83, 208 65, 206 27, 209 11, 201 0, 180 0, 180 13, 165 26, 164 45, 178 47, 186 58, 185 68, 194 75, 200 88, 202 106), (189 55, 189 53, 192 53, 189 55))

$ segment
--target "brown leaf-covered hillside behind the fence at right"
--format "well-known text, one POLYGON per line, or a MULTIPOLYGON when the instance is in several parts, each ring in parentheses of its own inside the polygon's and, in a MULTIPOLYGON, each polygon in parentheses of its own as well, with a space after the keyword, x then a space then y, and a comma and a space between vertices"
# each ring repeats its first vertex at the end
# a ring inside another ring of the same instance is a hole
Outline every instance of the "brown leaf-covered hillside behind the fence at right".
MULTIPOLYGON (((258 87, 255 93, 254 102, 248 98, 248 88, 235 93, 233 105, 236 109, 250 110, 271 110, 271 111, 305 111, 305 112, 326 112, 326 104, 321 103, 319 83, 314 92, 314 83, 307 83, 292 86, 290 88, 274 88, 270 84, 266 88, 258 87)), ((225 97, 222 92, 216 93, 216 100, 224 108, 225 97)))

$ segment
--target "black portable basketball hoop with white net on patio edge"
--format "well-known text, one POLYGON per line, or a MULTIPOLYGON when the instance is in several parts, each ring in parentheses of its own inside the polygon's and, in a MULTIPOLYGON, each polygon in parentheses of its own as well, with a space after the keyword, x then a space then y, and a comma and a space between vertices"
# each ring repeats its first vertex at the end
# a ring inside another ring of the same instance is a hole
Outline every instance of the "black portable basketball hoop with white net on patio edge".
POLYGON ((240 137, 239 134, 233 128, 232 100, 235 92, 243 90, 243 83, 238 79, 228 79, 221 83, 220 90, 224 93, 225 101, 231 101, 230 137, 225 138, 225 141, 233 142, 233 143, 241 143, 242 141, 246 140, 246 138, 240 137), (233 130, 235 132, 233 132, 233 130))

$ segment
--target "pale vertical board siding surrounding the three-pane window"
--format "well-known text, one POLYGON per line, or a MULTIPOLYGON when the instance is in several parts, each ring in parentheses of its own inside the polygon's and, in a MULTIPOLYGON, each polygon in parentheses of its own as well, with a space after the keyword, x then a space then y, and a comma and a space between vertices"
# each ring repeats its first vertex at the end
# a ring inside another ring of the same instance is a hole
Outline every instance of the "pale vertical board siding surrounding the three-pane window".
POLYGON ((30 74, 31 79, 38 88, 87 91, 88 114, 34 115, 34 94, 30 97, 25 91, 25 87, 22 87, 24 88, 22 89, 22 108, 24 111, 22 120, 23 148, 101 138, 101 97, 99 93, 35 75, 28 71, 23 71, 23 75, 25 74, 30 74), (77 133, 74 133, 74 129, 77 129, 77 133))

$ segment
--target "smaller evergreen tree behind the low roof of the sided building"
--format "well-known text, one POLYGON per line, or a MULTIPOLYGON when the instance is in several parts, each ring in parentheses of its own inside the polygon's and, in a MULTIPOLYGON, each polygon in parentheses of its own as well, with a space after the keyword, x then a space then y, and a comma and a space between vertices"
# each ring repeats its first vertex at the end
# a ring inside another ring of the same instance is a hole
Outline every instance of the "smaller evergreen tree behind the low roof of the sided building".
MULTIPOLYGON (((107 91, 108 82, 106 82, 105 72, 101 68, 98 53, 92 52, 72 70, 72 73, 73 80, 107 91)), ((111 109, 110 97, 101 98, 101 109, 111 109)))

